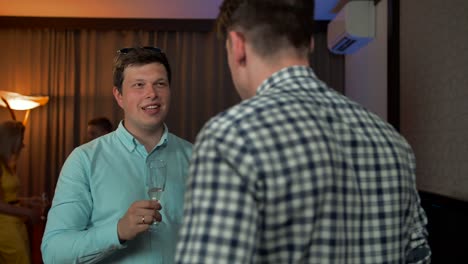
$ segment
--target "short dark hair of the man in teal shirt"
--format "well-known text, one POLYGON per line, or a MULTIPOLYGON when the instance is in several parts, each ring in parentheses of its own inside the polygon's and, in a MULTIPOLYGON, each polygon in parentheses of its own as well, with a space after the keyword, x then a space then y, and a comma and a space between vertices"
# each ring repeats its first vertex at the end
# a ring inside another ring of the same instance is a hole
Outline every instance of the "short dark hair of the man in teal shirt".
POLYGON ((117 51, 114 59, 113 81, 119 93, 122 93, 122 83, 124 71, 130 65, 146 65, 150 63, 160 63, 166 68, 167 79, 171 83, 171 66, 164 52, 154 47, 133 47, 117 51), (121 52, 125 50, 125 52, 121 52))

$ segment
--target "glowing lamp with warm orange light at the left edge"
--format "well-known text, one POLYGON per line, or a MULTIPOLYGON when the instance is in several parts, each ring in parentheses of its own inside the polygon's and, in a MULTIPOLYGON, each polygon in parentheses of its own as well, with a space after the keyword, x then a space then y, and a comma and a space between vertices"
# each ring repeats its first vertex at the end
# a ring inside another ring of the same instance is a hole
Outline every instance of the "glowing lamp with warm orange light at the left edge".
POLYGON ((49 102, 48 96, 27 96, 19 93, 8 92, 0 90, 0 106, 6 107, 10 110, 11 117, 16 120, 13 110, 26 110, 23 124, 26 125, 29 118, 29 111, 49 102))

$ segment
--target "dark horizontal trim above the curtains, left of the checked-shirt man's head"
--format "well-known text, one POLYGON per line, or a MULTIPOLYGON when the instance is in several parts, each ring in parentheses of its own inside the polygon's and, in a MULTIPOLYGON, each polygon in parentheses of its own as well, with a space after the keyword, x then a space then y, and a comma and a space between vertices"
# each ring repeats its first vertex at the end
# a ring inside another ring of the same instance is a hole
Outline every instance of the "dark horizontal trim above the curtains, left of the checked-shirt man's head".
POLYGON ((212 31, 214 19, 139 19, 0 16, 0 28, 142 29, 165 31, 212 31))

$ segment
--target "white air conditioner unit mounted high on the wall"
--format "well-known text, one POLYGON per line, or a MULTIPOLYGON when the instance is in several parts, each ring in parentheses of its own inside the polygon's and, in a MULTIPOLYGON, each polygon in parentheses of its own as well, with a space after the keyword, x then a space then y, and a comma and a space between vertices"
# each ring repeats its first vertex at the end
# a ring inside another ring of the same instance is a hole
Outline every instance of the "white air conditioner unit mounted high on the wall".
POLYGON ((328 49, 336 54, 351 54, 374 37, 374 1, 349 1, 327 28, 328 49))

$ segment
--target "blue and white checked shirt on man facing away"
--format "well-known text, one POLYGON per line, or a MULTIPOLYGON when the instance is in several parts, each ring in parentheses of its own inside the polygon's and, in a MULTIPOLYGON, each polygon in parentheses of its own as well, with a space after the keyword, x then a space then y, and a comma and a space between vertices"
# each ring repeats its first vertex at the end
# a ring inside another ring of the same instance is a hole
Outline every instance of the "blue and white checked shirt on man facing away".
POLYGON ((285 68, 197 137, 177 263, 426 263, 410 146, 285 68))

